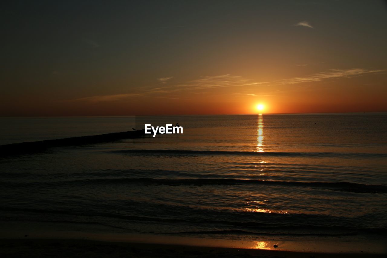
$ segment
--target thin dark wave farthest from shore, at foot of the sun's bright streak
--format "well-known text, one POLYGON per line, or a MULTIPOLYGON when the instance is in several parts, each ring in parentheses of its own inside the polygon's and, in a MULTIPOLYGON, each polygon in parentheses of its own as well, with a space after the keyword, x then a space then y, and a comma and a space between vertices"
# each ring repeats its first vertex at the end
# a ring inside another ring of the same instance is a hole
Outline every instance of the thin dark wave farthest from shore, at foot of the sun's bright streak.
POLYGON ((279 157, 387 157, 386 153, 283 152, 283 151, 209 151, 209 150, 115 150, 112 153, 140 155, 243 155, 279 157))

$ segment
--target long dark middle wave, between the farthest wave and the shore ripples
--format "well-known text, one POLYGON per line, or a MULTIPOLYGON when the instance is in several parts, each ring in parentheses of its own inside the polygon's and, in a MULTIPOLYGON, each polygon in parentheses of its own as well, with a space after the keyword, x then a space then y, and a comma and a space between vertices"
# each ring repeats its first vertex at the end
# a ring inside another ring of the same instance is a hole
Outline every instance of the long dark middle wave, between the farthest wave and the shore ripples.
POLYGON ((351 182, 300 182, 300 181, 271 181, 271 180, 246 180, 246 179, 155 179, 155 178, 99 178, 76 181, 61 181, 61 183, 102 183, 102 184, 158 184, 168 186, 180 185, 280 185, 280 186, 298 186, 298 187, 321 187, 336 191, 347 191, 353 193, 387 193, 386 185, 377 184, 358 184, 351 182))

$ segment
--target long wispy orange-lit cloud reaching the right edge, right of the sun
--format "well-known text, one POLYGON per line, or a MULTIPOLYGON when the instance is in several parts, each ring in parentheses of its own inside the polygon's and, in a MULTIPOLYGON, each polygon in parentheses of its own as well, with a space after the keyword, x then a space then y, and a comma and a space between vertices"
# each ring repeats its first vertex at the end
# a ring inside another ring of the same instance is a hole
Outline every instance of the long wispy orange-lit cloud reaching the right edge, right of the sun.
POLYGON ((386 70, 366 70, 361 68, 353 68, 353 69, 331 69, 329 72, 319 72, 316 74, 312 74, 310 76, 305 77, 293 77, 290 79, 282 79, 278 81, 274 81, 274 85, 277 84, 298 84, 298 83, 310 83, 313 81, 322 81, 330 78, 340 78, 340 77, 354 77, 361 76, 365 74, 375 74, 380 72, 386 72, 386 70))

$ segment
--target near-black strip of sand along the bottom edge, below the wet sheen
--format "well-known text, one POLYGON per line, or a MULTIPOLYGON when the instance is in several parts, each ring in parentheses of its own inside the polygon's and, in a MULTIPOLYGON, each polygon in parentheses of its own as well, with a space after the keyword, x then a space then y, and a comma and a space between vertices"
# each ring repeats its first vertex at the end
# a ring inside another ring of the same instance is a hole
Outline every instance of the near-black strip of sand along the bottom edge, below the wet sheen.
POLYGON ((2 257, 384 257, 383 254, 315 253, 171 244, 103 242, 84 239, 2 239, 2 257))

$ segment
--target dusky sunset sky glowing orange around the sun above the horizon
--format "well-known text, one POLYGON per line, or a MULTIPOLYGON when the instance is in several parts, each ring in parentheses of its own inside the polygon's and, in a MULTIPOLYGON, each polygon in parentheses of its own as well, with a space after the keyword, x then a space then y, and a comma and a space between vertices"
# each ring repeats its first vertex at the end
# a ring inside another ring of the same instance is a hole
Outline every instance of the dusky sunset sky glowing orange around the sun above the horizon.
POLYGON ((9 1, 0 12, 0 116, 387 111, 385 1, 9 1))

